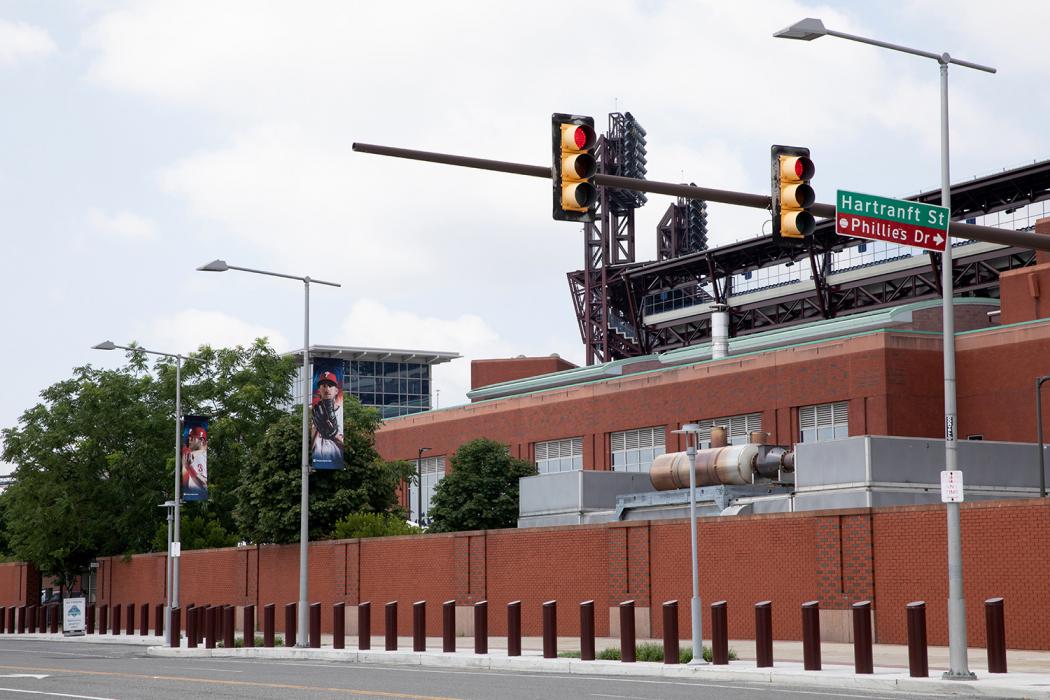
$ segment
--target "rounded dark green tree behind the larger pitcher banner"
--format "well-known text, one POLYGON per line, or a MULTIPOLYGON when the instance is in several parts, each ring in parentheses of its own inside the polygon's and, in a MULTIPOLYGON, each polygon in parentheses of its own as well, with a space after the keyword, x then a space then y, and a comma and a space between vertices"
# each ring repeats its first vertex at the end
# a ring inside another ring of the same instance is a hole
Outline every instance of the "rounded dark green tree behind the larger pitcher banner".
MULTIPOLYGON (((385 513, 397 508, 396 488, 410 479, 407 462, 384 462, 375 447, 379 412, 345 395, 343 469, 310 475, 310 538, 331 536, 336 522, 354 512, 385 513)), ((270 426, 253 459, 240 473, 234 518, 252 543, 288 544, 299 539, 302 474, 301 409, 270 426)), ((398 513, 403 518, 403 513, 398 513)))

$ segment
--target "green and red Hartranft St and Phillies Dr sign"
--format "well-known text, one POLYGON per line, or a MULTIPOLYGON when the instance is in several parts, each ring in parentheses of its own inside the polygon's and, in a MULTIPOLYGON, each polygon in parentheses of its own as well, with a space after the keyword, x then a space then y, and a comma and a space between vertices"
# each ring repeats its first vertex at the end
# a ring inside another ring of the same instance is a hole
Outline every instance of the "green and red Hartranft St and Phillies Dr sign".
POLYGON ((943 253, 948 240, 948 209, 839 190, 835 233, 943 253))

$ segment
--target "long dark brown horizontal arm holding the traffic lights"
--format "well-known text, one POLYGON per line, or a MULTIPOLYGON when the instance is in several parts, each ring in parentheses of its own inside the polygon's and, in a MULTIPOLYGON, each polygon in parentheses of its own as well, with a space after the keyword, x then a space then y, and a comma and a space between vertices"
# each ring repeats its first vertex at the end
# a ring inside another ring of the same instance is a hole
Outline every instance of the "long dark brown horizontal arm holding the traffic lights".
MULTIPOLYGON (((428 163, 442 163, 444 165, 462 166, 466 168, 478 168, 480 170, 491 170, 495 172, 509 172, 517 175, 528 175, 530 177, 544 177, 550 179, 550 168, 545 166, 531 166, 522 163, 508 163, 505 161, 489 161, 486 158, 474 158, 465 155, 452 155, 448 153, 435 153, 432 151, 416 151, 407 148, 394 148, 392 146, 374 146, 371 144, 354 144, 353 149, 359 153, 373 153, 375 155, 390 155, 410 161, 426 161, 428 163)), ((633 177, 620 177, 618 175, 596 174, 592 181, 597 185, 612 187, 621 190, 634 190, 636 192, 650 192, 653 194, 669 194, 671 196, 686 197, 687 199, 707 199, 723 205, 736 205, 738 207, 751 207, 752 209, 770 209, 770 197, 761 194, 748 194, 747 192, 734 192, 732 190, 714 190, 707 187, 696 187, 695 185, 679 185, 676 183, 660 183, 652 179, 635 179, 633 177)), ((835 217, 835 205, 814 204, 810 207, 817 216, 824 218, 835 217)), ((963 224, 952 221, 948 229, 956 238, 972 238, 986 243, 998 243, 1000 246, 1015 246, 1037 251, 1050 252, 1050 236, 1026 233, 1024 231, 1010 231, 1009 229, 996 229, 990 226, 978 226, 976 224, 963 224)))

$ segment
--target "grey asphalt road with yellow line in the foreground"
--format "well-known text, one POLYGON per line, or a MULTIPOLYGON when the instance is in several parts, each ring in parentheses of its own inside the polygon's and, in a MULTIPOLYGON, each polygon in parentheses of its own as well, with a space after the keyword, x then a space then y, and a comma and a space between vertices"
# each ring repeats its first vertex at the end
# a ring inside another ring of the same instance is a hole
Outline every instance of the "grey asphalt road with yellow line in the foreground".
MULTIPOLYGON (((778 688, 650 678, 569 676, 319 661, 154 658, 143 646, 0 640, 0 698, 374 698, 376 700, 895 700, 909 693, 778 688)), ((960 696, 954 696, 960 697, 960 696)))

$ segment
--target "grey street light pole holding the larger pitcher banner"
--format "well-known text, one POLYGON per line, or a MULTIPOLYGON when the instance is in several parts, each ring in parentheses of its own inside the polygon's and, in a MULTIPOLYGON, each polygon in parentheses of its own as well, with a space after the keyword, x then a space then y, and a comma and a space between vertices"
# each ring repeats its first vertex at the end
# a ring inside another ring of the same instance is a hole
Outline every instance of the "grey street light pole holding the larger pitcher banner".
POLYGON ((251 272, 256 275, 268 275, 270 277, 284 277, 285 279, 296 279, 302 282, 304 292, 304 314, 302 324, 302 489, 299 500, 299 606, 298 606, 298 634, 296 635, 296 646, 308 646, 310 644, 308 615, 310 613, 307 601, 307 547, 310 544, 310 284, 326 284, 328 287, 341 287, 337 282, 326 282, 311 277, 299 277, 297 275, 285 275, 279 272, 267 272, 265 270, 253 270, 252 268, 238 268, 227 264, 226 260, 212 260, 207 264, 197 268, 201 272, 226 272, 227 270, 239 270, 240 272, 251 272))

